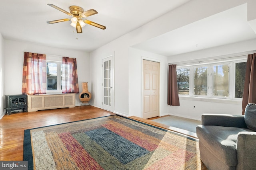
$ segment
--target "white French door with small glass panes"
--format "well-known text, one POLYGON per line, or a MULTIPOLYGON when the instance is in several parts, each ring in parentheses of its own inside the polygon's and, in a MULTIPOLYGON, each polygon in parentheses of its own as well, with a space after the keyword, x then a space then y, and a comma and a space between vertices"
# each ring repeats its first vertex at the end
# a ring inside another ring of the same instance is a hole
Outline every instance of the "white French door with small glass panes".
POLYGON ((112 56, 102 60, 102 109, 113 111, 112 56))

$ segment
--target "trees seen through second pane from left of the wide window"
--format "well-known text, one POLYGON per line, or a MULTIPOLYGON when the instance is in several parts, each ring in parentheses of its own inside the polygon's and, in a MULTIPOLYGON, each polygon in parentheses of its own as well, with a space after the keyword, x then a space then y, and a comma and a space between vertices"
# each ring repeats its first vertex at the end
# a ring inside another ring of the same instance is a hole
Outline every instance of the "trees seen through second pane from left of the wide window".
POLYGON ((207 95, 207 67, 194 68, 194 95, 207 95))

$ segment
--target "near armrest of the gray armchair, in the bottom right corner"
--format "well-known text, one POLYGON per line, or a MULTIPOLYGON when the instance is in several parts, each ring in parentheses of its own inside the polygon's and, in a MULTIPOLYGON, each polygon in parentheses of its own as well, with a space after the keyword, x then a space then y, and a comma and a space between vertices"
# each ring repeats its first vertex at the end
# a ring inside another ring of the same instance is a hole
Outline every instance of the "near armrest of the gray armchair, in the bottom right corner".
POLYGON ((256 132, 239 132, 236 144, 237 166, 239 170, 256 167, 256 132))

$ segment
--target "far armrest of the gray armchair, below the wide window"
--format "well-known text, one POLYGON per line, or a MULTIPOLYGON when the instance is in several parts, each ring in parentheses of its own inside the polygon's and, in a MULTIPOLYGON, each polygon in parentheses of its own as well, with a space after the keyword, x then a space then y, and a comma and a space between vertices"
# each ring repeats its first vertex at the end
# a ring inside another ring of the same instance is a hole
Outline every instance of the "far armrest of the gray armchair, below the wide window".
POLYGON ((247 128, 244 115, 202 114, 202 125, 247 128))

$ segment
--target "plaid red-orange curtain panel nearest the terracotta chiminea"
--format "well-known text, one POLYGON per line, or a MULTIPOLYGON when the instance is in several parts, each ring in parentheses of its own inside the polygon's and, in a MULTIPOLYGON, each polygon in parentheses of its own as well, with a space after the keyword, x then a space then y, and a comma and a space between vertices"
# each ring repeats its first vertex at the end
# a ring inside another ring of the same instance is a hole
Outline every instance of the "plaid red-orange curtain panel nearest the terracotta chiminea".
POLYGON ((76 59, 62 57, 62 93, 79 93, 76 59))

